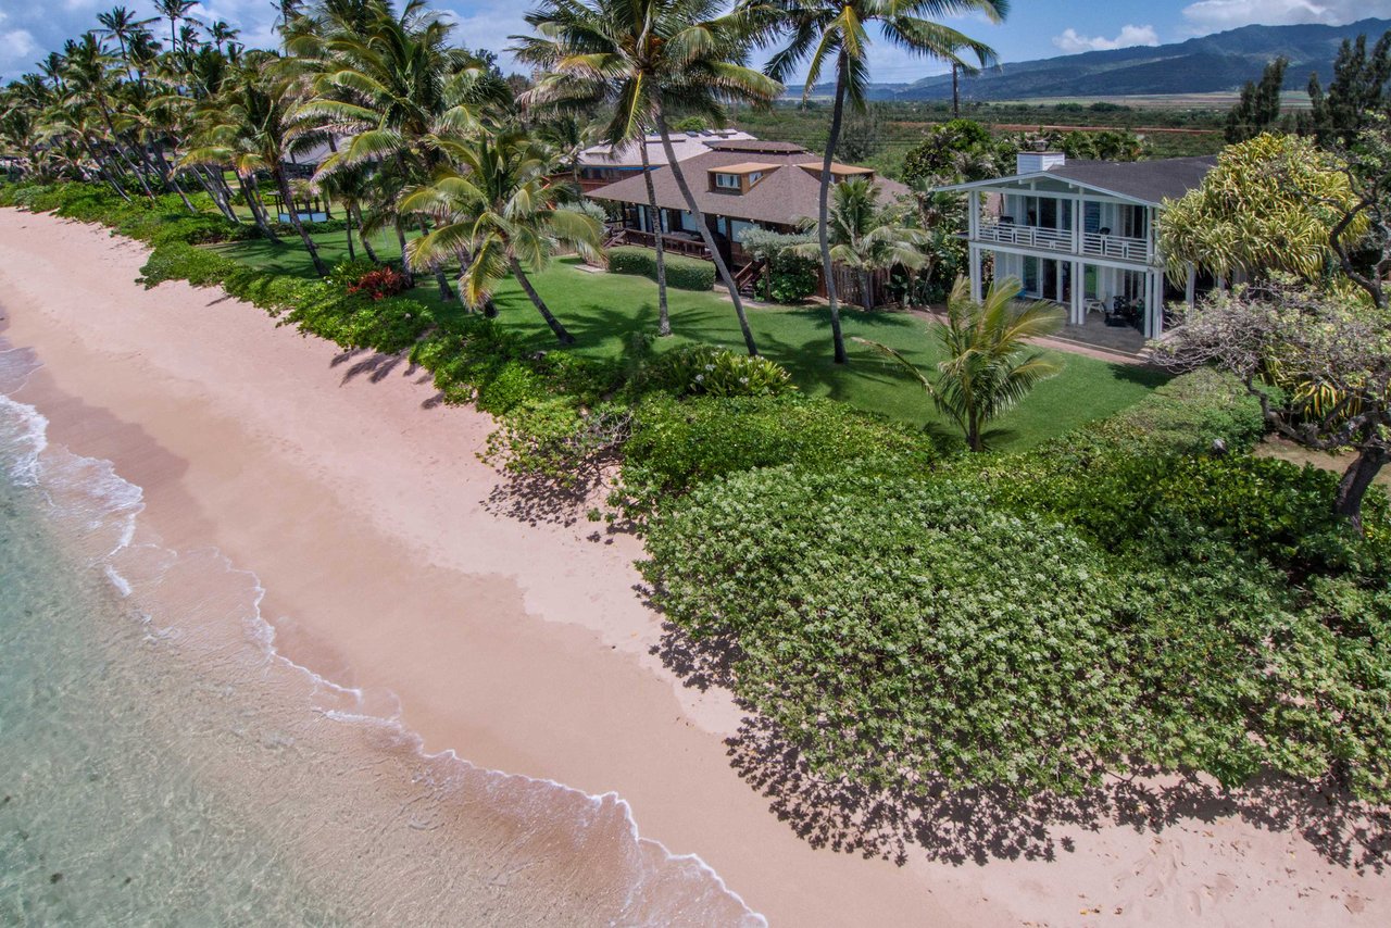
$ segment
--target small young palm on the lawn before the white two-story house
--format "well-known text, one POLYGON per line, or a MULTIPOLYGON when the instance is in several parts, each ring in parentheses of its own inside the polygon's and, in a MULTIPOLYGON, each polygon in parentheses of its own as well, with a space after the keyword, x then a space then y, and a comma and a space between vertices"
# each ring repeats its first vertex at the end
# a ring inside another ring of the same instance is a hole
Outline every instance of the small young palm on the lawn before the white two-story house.
POLYGON ((967 447, 986 451, 990 440, 1000 435, 1000 430, 986 431, 986 424, 1059 370, 1042 352, 1029 352, 1025 345, 1029 338, 1056 333, 1063 326, 1063 310, 1045 302, 1018 306, 1020 288, 1013 277, 993 281, 985 301, 976 303, 967 280, 958 277, 947 299, 946 320, 931 327, 946 355, 931 377, 886 345, 864 338, 855 341, 912 371, 938 412, 965 434, 967 447))

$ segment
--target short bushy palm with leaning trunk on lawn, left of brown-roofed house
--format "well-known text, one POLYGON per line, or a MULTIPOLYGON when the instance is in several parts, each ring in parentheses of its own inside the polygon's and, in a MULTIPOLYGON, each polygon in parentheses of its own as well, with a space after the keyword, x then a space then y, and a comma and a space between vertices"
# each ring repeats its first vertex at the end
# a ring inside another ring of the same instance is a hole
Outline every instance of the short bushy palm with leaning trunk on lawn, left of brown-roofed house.
POLYGON ((551 179, 559 167, 555 154, 520 128, 445 142, 444 150, 458 170, 442 168, 399 206, 402 213, 427 214, 437 223, 433 232, 410 243, 410 262, 427 267, 469 255, 459 288, 472 307, 487 306, 510 273, 561 344, 573 344, 574 337, 536 292, 527 270, 544 269, 559 243, 598 259, 602 230, 593 217, 561 209, 573 198, 573 188, 551 179))

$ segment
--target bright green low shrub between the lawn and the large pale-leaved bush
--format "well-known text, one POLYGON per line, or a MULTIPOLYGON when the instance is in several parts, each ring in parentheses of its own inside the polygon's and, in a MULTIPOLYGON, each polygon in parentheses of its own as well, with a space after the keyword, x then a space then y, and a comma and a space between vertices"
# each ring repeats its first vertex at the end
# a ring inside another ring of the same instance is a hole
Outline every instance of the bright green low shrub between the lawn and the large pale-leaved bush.
POLYGON ((623 447, 623 493, 641 515, 694 486, 753 467, 796 465, 826 470, 846 462, 892 461, 924 470, 932 445, 904 426, 875 419, 830 399, 697 397, 654 394, 633 413, 623 447))

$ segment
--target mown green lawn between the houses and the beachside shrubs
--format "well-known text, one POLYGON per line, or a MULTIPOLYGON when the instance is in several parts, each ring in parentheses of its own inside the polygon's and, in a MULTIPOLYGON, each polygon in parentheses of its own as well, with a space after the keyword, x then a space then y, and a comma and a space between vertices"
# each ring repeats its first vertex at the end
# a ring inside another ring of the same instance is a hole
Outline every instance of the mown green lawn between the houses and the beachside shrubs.
MULTIPOLYGON (((324 260, 334 263, 346 257, 342 232, 319 234, 314 238, 324 260)), ((399 255, 392 235, 377 237, 373 246, 384 259, 399 255)), ((257 267, 312 275, 309 259, 298 239, 287 239, 280 246, 253 239, 216 248, 257 267)), ((580 270, 573 260, 559 260, 537 274, 534 282, 555 314, 577 338, 577 344, 569 351, 594 358, 616 358, 629 351, 633 334, 657 328, 657 284, 647 278, 590 273, 580 270)), ((428 302, 437 312, 462 312, 440 303, 431 278, 424 278, 423 284, 426 285, 413 291, 413 296, 428 302)), ((727 301, 711 292, 672 289, 669 294, 672 328, 676 334, 661 339, 658 351, 689 342, 743 349, 739 324, 727 301)), ((515 282, 504 284, 495 302, 508 326, 524 333, 538 348, 555 348, 545 323, 515 282)), ((939 422, 922 387, 874 351, 851 342, 851 363, 844 367, 832 365, 830 327, 825 309, 750 307, 748 314, 758 349, 787 367, 804 392, 842 399, 860 409, 914 424, 939 422)), ((926 335, 926 323, 921 317, 850 309, 843 320, 847 337, 860 335, 883 342, 919 366, 938 360, 926 335)), ((1160 373, 1128 365, 1111 365, 1067 352, 1049 355, 1061 365, 1061 373, 1040 384, 1000 422, 1014 433, 1008 442, 1011 448, 1025 448, 1081 423, 1107 416, 1138 401, 1164 380, 1160 373)))

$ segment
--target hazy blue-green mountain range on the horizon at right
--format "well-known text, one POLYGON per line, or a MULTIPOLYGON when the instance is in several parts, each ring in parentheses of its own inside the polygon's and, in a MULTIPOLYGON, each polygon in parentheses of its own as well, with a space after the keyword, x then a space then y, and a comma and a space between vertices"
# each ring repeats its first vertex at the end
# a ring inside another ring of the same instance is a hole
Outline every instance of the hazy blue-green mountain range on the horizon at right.
MULTIPOLYGON (((1036 61, 1004 64, 961 79, 963 99, 1022 100, 1029 97, 1095 97, 1128 95, 1213 93, 1238 90, 1260 78, 1266 63, 1289 58, 1285 88, 1303 89, 1317 72, 1324 86, 1344 39, 1367 36, 1370 46, 1391 29, 1391 19, 1362 19, 1341 26, 1252 25, 1160 46, 1084 51, 1036 61)), ((817 88, 829 95, 832 85, 817 88)), ((942 100, 951 97, 951 75, 912 83, 875 83, 876 100, 942 100)))

